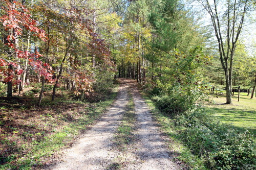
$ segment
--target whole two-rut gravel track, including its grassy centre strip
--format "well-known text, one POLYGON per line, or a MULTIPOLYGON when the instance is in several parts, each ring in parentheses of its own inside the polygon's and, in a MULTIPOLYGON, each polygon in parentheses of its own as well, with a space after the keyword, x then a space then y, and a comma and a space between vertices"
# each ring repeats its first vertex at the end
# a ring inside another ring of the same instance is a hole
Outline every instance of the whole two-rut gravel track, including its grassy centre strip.
POLYGON ((109 111, 45 169, 182 169, 137 82, 119 80, 119 94, 109 111))

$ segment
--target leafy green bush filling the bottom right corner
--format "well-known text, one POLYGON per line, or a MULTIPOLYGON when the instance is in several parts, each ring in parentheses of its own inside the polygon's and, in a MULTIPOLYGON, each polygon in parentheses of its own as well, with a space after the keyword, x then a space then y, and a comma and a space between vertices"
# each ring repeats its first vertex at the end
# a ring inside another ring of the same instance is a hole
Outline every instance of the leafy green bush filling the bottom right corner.
POLYGON ((248 131, 227 135, 210 156, 216 161, 216 169, 256 169, 255 140, 248 131))

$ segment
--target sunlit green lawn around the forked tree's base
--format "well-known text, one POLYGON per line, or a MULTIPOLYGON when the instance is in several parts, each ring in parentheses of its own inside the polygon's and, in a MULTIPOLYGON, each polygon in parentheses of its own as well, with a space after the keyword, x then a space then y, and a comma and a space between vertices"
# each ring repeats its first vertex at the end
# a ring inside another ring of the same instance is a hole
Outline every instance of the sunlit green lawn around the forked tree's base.
POLYGON ((221 122, 231 123, 233 127, 242 131, 248 130, 256 134, 256 99, 250 99, 247 93, 240 93, 240 102, 238 102, 238 93, 235 92, 232 97, 232 104, 225 105, 225 93, 223 95, 212 95, 213 104, 205 105, 206 110, 215 116, 218 116, 221 122), (218 96, 218 98, 216 97, 218 96))

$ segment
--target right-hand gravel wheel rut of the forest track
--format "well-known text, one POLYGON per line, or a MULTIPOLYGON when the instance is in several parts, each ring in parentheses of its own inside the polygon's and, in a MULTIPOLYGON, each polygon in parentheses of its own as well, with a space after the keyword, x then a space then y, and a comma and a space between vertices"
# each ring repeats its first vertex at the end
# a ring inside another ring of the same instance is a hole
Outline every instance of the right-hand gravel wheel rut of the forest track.
POLYGON ((130 88, 137 115, 135 135, 138 141, 133 148, 136 148, 134 155, 139 162, 128 165, 127 169, 180 169, 179 164, 173 160, 175 155, 167 148, 167 139, 159 131, 144 99, 141 98, 137 85, 132 83, 130 88))

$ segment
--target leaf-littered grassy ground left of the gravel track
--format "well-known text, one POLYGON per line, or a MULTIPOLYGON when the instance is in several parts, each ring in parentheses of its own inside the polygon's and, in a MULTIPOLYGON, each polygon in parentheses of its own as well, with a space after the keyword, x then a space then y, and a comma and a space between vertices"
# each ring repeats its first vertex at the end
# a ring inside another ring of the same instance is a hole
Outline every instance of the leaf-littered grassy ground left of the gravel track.
POLYGON ((32 169, 50 164, 61 149, 70 147, 116 98, 115 90, 105 101, 83 103, 58 94, 54 103, 44 98, 1 100, 0 169, 32 169))

